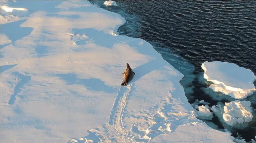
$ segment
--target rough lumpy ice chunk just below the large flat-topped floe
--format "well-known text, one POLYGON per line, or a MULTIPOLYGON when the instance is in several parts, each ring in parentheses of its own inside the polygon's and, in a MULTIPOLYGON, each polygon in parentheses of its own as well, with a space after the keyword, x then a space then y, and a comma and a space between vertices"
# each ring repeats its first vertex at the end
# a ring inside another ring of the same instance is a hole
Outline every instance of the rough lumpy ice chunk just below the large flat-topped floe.
POLYGON ((248 123, 252 121, 252 112, 250 101, 235 100, 230 103, 225 103, 223 119, 230 126, 248 123))

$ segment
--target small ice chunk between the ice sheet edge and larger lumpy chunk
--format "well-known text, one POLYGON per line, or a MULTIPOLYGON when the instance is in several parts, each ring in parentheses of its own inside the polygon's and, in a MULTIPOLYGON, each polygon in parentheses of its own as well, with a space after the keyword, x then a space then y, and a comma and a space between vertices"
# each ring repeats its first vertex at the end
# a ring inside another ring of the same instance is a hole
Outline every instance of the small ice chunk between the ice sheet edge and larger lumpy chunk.
POLYGON ((213 118, 213 113, 210 112, 210 107, 209 106, 199 106, 198 107, 198 110, 196 110, 196 114, 197 114, 197 117, 199 119, 203 119, 203 120, 211 120, 213 118))

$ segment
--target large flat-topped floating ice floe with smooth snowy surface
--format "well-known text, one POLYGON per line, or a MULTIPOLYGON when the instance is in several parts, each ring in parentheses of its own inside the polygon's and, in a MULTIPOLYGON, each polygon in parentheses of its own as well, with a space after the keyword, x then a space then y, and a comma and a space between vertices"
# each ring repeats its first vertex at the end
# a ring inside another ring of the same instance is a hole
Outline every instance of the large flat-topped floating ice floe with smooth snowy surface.
POLYGON ((234 63, 213 61, 203 62, 204 78, 213 82, 209 88, 222 92, 235 99, 244 99, 256 91, 253 82, 256 80, 251 70, 234 63))

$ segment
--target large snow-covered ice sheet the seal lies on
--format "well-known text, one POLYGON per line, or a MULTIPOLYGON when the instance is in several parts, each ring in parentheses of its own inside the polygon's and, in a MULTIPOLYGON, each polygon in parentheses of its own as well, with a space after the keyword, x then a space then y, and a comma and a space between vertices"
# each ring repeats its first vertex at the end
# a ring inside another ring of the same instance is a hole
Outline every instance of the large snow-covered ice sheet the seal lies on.
POLYGON ((183 75, 152 45, 117 34, 119 14, 88 1, 6 4, 28 13, 1 24, 1 141, 233 142, 195 117, 183 75), (136 75, 123 87, 126 63, 136 75))

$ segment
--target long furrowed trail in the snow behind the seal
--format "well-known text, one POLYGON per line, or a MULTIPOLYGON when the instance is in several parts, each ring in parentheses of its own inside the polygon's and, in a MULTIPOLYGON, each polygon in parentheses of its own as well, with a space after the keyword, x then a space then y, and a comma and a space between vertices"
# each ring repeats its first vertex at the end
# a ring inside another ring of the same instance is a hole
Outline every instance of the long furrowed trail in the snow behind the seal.
POLYGON ((122 115, 129 97, 129 93, 131 91, 132 83, 130 83, 128 86, 120 85, 117 98, 110 114, 109 124, 115 126, 119 132, 122 132, 121 130, 124 130, 124 128, 122 127, 122 115))

